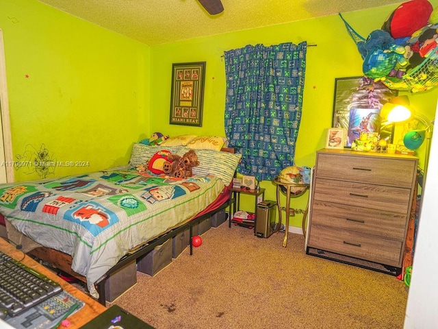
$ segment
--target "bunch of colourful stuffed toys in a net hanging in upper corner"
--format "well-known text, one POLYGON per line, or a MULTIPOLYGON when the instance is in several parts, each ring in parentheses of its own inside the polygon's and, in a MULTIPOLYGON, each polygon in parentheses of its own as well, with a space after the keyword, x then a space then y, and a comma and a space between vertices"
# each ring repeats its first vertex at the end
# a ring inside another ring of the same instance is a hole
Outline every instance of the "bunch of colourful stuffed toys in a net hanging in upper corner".
POLYGON ((344 23, 361 53, 366 77, 413 93, 438 85, 438 8, 428 0, 402 3, 366 40, 344 23))

